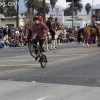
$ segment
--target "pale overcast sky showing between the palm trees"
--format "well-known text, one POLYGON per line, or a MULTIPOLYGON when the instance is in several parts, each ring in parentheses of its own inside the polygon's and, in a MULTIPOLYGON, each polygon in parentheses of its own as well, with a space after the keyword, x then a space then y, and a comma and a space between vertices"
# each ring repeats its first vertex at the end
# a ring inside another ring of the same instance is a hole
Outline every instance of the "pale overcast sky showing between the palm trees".
MULTIPOLYGON (((49 2, 49 0, 46 0, 47 2, 49 2)), ((92 5, 92 1, 93 0, 82 0, 83 5, 86 5, 87 3, 90 3, 92 5)), ((64 8, 67 7, 68 3, 66 2, 66 0, 58 0, 58 2, 56 3, 59 6, 62 6, 64 8)), ((100 0, 94 0, 93 5, 96 4, 100 4, 100 0)))

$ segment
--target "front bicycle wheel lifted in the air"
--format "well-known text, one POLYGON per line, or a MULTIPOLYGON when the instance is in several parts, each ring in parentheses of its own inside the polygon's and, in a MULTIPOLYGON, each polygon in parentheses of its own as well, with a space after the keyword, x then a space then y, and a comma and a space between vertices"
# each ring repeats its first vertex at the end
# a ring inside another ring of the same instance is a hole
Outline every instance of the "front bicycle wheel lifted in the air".
POLYGON ((36 44, 29 45, 29 52, 32 57, 36 58, 38 54, 38 47, 36 44))

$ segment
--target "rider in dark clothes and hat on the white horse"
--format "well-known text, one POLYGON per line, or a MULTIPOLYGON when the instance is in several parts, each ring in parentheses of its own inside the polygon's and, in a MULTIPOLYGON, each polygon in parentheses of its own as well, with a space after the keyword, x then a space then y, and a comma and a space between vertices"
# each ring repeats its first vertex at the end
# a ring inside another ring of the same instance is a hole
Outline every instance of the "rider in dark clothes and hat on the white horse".
POLYGON ((48 20, 46 21, 46 25, 49 28, 49 32, 52 35, 52 39, 54 39, 55 31, 53 30, 53 27, 52 27, 52 21, 53 21, 53 17, 49 17, 48 20))

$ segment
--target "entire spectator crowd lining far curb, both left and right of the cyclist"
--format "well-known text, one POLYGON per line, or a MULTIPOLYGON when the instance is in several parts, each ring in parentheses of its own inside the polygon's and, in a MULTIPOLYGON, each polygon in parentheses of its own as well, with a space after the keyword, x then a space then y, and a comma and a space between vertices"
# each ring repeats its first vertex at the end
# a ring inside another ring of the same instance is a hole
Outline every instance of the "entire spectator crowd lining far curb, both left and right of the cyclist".
MULTIPOLYGON (((77 31, 66 28, 66 35, 61 35, 62 43, 76 42, 77 31)), ((0 48, 22 47, 27 45, 26 27, 8 28, 7 26, 0 28, 0 48)))

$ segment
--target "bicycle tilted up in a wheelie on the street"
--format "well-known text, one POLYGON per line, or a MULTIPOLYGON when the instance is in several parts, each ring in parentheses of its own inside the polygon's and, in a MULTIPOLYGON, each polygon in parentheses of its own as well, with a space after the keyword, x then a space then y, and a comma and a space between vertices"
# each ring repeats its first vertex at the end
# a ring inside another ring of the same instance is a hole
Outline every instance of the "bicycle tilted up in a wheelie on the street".
MULTIPOLYGON (((38 42, 39 41, 38 38, 35 38, 35 41, 38 42)), ((39 44, 33 44, 33 41, 31 41, 31 43, 29 44, 29 52, 31 56, 34 57, 36 60, 40 58, 39 62, 42 68, 46 67, 47 57, 46 55, 43 54, 42 48, 40 47, 39 44)))

